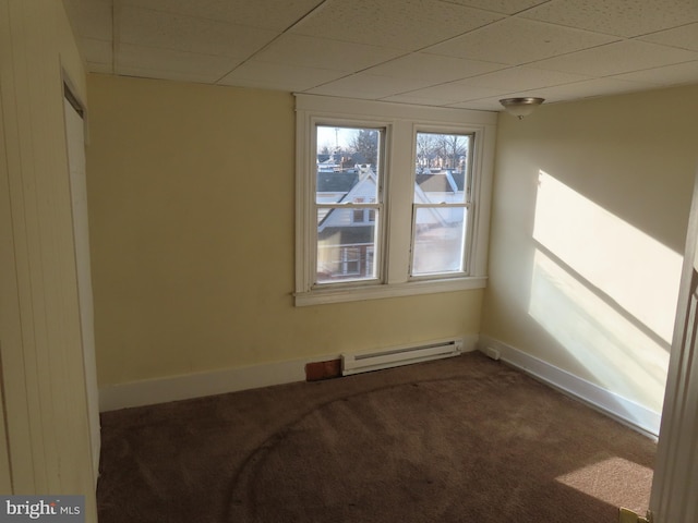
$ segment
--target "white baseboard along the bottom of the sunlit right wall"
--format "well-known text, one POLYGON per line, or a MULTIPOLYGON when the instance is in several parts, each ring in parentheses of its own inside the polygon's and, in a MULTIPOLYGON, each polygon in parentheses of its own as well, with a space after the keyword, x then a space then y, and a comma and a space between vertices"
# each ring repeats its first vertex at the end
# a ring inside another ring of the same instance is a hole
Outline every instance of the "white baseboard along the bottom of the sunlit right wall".
POLYGON ((492 357, 489 354, 489 348, 498 351, 500 358, 508 365, 602 411, 646 436, 658 437, 662 417, 660 413, 531 356, 519 349, 488 336, 481 336, 479 349, 492 357))

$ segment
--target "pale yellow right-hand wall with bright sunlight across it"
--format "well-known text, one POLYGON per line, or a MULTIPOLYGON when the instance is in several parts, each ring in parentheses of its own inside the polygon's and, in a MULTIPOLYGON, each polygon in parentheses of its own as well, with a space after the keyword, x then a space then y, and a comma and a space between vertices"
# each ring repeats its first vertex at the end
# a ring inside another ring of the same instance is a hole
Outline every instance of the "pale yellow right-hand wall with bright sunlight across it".
POLYGON ((498 120, 483 335, 661 412, 698 86, 498 120))

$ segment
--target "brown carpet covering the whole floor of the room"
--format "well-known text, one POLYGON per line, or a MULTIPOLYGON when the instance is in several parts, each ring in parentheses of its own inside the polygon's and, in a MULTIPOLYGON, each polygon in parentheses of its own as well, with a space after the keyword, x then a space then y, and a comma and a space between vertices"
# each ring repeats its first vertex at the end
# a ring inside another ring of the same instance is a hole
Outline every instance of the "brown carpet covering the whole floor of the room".
POLYGON ((615 523, 654 450, 473 353, 105 413, 99 521, 615 523))

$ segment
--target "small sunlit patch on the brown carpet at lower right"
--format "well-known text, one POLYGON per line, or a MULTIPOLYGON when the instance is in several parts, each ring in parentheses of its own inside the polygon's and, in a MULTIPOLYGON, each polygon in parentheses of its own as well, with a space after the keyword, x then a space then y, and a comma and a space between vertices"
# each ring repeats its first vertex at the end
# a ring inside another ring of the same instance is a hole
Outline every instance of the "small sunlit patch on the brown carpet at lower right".
MULTIPOLYGON (((556 478, 557 482, 614 507, 649 496, 652 470, 619 457, 593 463, 556 478), (641 492, 634 495, 634 492, 641 492)), ((642 511, 647 507, 629 507, 642 511)))

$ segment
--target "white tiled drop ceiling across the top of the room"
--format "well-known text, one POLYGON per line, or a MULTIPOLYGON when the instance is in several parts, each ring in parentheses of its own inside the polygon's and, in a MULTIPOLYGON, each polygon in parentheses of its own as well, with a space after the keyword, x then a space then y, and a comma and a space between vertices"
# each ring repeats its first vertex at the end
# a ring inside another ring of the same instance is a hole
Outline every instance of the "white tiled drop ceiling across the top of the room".
POLYGON ((698 0, 64 0, 89 72, 498 111, 698 84, 698 0))

